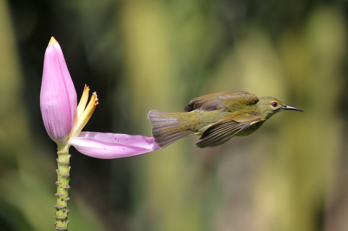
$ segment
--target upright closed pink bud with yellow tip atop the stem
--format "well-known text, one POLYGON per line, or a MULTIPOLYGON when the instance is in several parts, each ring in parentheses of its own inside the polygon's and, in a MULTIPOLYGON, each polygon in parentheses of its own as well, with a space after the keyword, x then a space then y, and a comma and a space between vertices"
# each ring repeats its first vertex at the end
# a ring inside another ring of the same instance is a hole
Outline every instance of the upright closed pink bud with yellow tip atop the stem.
POLYGON ((76 124, 77 97, 62 49, 53 37, 45 52, 40 109, 49 137, 64 144, 76 124))

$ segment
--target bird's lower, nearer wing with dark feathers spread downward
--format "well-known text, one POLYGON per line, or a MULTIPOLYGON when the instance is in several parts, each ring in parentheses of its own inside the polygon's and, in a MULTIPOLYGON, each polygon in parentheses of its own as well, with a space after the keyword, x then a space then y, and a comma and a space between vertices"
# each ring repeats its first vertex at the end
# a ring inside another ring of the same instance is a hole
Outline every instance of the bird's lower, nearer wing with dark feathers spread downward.
POLYGON ((266 116, 260 113, 248 111, 232 113, 207 128, 196 145, 201 148, 220 145, 245 131, 250 125, 264 120, 266 120, 266 116))

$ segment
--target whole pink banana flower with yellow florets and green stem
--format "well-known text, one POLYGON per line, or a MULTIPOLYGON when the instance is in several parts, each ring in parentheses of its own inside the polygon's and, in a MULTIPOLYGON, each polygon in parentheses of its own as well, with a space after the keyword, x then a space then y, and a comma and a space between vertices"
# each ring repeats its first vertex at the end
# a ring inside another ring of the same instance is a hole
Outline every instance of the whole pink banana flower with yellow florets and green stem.
POLYGON ((68 230, 70 182, 69 147, 88 156, 112 159, 151 152, 158 147, 152 137, 103 132, 81 132, 99 104, 94 92, 88 104, 85 85, 79 105, 63 52, 52 37, 46 48, 42 72, 40 110, 49 137, 57 143, 56 230, 68 230), (86 106, 87 105, 87 106, 86 106))

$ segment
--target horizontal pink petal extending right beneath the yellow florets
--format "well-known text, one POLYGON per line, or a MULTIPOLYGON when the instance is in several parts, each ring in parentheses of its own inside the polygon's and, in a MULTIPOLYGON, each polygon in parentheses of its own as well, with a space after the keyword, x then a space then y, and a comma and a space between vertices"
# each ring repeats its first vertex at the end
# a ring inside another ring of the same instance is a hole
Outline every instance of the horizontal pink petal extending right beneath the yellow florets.
POLYGON ((158 149, 152 137, 102 132, 81 132, 66 143, 87 156, 113 159, 139 155, 158 149))

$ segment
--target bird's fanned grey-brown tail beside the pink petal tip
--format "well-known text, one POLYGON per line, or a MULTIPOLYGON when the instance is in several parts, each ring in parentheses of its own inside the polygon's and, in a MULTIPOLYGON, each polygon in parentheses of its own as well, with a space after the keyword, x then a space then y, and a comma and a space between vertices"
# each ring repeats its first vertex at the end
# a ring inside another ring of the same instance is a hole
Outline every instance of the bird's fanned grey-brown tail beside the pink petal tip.
POLYGON ((158 147, 164 148, 185 136, 194 132, 186 130, 181 125, 185 113, 170 113, 159 110, 151 110, 148 114, 148 120, 152 124, 153 141, 158 147))

